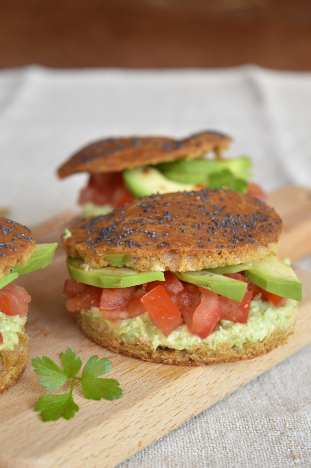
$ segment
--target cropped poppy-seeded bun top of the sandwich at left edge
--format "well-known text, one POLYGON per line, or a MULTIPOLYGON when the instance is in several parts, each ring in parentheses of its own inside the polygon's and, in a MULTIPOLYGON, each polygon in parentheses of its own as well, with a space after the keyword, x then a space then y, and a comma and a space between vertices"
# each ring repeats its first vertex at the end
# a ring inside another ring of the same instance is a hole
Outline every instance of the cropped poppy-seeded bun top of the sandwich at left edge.
POLYGON ((35 247, 28 227, 0 217, 0 278, 15 265, 26 265, 35 247))

